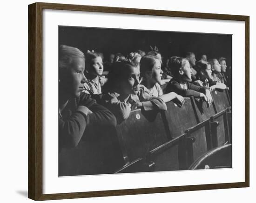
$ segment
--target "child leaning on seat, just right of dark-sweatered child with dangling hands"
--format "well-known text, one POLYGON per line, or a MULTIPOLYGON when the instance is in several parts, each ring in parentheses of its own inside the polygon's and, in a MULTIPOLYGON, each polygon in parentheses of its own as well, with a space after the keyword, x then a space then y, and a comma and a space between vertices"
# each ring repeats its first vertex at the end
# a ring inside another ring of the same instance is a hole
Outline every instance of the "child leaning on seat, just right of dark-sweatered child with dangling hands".
POLYGON ((194 82, 195 85, 206 87, 210 91, 213 89, 227 89, 227 86, 223 83, 213 81, 210 77, 212 76, 211 65, 205 61, 198 61, 196 63, 197 68, 197 80, 194 82))

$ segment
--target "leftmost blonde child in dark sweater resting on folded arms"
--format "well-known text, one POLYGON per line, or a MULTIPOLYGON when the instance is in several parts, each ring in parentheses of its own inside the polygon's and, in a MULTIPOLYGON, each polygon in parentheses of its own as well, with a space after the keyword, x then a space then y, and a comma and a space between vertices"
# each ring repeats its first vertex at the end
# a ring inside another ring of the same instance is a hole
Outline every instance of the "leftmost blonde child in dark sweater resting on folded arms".
POLYGON ((77 48, 61 45, 59 49, 59 149, 78 145, 90 126, 116 125, 115 116, 83 93, 85 57, 77 48))

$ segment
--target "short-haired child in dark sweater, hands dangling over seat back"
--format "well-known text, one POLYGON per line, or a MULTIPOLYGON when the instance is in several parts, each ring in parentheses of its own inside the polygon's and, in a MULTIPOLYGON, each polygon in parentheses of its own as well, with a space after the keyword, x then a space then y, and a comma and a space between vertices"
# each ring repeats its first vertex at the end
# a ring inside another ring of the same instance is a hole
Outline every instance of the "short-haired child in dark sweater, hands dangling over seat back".
POLYGON ((168 65, 174 77, 168 82, 166 93, 175 92, 184 97, 194 96, 203 98, 209 105, 212 103, 208 88, 191 83, 192 70, 186 58, 171 57, 168 65))

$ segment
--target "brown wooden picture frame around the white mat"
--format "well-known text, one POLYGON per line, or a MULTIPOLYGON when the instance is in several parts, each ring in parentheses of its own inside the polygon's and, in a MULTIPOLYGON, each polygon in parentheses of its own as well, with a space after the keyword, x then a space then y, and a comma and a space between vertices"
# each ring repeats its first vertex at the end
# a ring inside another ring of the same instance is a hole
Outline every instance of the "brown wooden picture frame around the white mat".
POLYGON ((190 13, 134 8, 81 6, 34 3, 28 6, 28 197, 34 200, 54 200, 81 197, 103 197, 162 193, 190 190, 212 190, 249 187, 249 16, 213 13, 190 13), (245 181, 223 184, 197 184, 139 188, 125 190, 84 191, 43 194, 43 10, 122 13, 197 19, 234 20, 245 23, 245 181))

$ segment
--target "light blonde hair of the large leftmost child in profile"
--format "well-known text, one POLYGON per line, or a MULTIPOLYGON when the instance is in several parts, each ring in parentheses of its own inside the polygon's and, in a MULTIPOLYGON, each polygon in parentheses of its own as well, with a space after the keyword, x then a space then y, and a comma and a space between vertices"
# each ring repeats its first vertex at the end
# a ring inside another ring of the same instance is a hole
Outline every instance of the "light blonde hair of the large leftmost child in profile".
POLYGON ((59 70, 67 69, 74 58, 85 58, 84 53, 78 48, 61 45, 59 49, 59 70))

